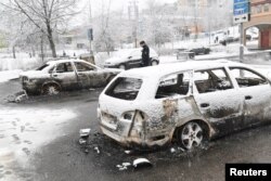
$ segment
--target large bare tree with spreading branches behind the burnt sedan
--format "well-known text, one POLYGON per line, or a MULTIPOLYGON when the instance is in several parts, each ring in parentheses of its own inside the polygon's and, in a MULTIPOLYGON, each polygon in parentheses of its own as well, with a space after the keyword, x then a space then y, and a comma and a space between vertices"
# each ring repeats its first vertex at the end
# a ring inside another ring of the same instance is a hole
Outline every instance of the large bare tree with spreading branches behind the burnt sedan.
POLYGON ((78 0, 9 0, 0 2, 5 9, 24 15, 48 39, 52 56, 56 57, 54 34, 64 29, 67 20, 75 15, 78 0))

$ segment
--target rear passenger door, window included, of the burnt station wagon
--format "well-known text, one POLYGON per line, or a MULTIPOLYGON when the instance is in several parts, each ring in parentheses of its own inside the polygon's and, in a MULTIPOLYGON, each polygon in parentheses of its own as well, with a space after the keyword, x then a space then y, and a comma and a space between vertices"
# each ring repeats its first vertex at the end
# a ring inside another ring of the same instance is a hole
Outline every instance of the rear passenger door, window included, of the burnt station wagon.
POLYGON ((217 134, 241 128, 243 99, 225 68, 194 72, 194 99, 217 134))

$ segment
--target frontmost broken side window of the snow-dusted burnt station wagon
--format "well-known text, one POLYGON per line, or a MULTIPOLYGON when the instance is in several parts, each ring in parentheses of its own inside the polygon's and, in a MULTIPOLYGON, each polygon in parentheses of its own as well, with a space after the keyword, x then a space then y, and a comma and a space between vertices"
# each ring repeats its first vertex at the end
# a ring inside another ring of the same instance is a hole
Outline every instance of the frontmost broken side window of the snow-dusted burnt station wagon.
POLYGON ((232 67, 230 69, 241 88, 268 83, 264 77, 251 70, 237 67, 232 67))

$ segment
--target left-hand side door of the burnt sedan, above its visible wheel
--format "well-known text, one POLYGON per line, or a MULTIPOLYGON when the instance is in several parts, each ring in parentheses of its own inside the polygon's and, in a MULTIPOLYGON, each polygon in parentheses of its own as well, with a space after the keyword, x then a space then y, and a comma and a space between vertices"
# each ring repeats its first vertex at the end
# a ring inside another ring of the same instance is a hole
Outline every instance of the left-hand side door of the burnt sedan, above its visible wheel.
POLYGON ((59 82, 64 90, 77 89, 77 76, 70 62, 59 63, 51 77, 59 82))

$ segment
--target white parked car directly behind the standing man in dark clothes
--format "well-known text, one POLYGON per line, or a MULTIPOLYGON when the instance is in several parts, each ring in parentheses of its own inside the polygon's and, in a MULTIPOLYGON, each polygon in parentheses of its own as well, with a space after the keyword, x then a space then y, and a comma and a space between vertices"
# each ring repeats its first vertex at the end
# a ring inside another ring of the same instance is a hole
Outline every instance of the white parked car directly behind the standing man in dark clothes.
MULTIPOLYGON (((130 69, 142 66, 142 49, 121 49, 104 63, 104 67, 130 69)), ((158 54, 150 48, 151 65, 158 65, 158 54)))

